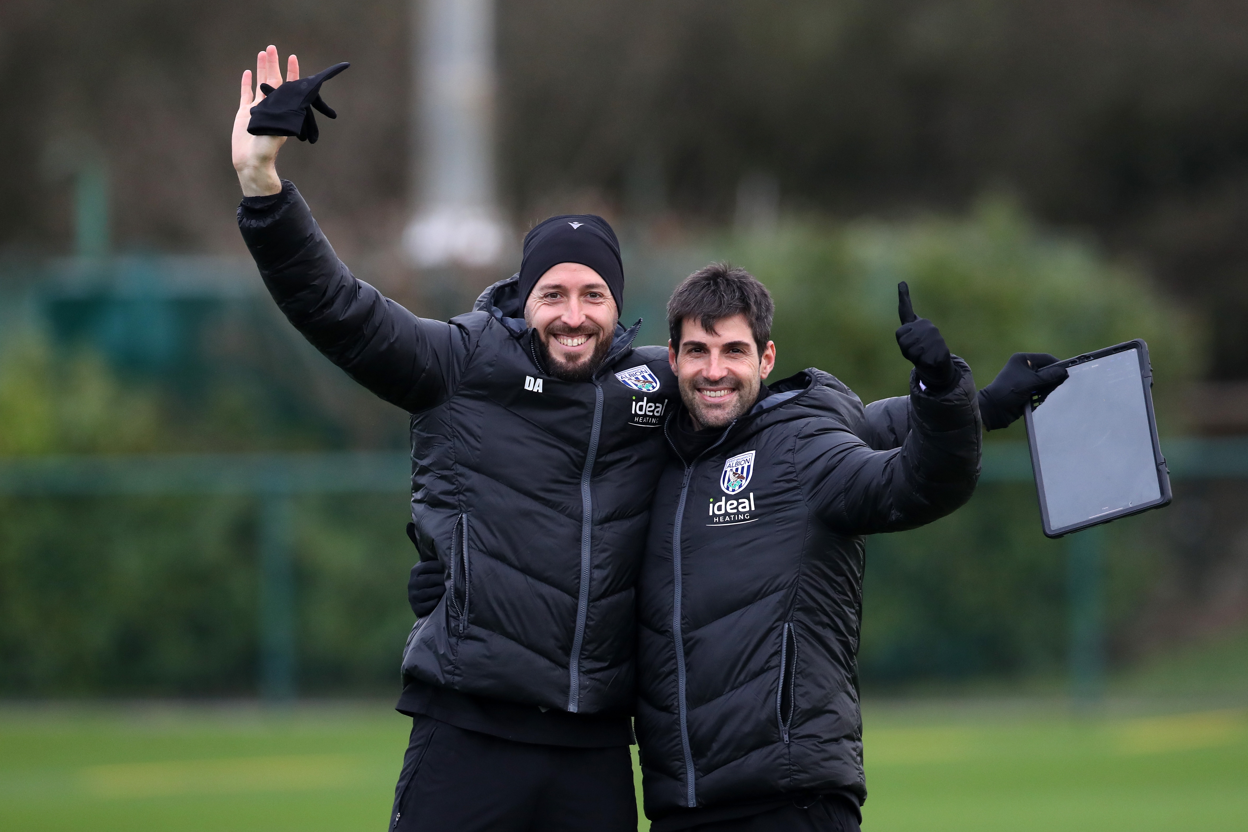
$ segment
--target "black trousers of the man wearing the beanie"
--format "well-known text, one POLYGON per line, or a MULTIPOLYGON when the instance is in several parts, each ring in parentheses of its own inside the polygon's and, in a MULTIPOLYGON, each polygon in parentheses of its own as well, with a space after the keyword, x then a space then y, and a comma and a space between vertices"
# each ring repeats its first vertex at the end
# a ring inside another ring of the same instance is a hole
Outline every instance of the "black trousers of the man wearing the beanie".
POLYGON ((389 828, 636 832, 631 755, 512 742, 416 716, 389 828))

